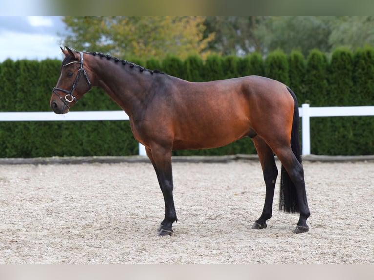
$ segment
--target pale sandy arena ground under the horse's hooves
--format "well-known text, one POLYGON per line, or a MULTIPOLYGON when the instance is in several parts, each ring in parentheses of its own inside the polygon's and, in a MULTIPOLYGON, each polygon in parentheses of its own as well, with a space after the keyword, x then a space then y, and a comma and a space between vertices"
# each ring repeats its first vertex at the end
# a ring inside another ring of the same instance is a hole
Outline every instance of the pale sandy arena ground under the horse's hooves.
POLYGON ((251 229, 265 198, 258 161, 175 162, 179 221, 159 237, 164 201, 150 163, 3 164, 0 264, 373 264, 374 162, 304 170, 311 229, 295 235, 298 215, 278 211, 278 185, 268 228, 251 229))

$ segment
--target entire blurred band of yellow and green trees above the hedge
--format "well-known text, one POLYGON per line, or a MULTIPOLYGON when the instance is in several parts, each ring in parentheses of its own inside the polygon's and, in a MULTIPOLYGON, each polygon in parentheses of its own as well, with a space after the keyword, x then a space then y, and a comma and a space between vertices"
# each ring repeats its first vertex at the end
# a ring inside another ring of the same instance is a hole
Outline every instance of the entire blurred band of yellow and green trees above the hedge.
POLYGON ((191 51, 206 60, 211 53, 263 56, 312 49, 331 54, 374 45, 373 16, 64 16, 68 32, 61 44, 77 50, 162 60, 191 51))

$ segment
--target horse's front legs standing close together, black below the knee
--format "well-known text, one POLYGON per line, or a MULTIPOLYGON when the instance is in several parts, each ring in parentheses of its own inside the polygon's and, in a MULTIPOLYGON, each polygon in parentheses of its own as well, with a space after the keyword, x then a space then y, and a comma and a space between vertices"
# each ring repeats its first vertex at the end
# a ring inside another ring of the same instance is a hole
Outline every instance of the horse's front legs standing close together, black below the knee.
POLYGON ((177 221, 173 198, 173 174, 171 168, 171 150, 162 147, 154 147, 146 149, 147 155, 151 160, 156 171, 157 180, 159 182, 165 202, 165 218, 161 222, 158 229, 160 236, 172 235, 172 225, 177 221))

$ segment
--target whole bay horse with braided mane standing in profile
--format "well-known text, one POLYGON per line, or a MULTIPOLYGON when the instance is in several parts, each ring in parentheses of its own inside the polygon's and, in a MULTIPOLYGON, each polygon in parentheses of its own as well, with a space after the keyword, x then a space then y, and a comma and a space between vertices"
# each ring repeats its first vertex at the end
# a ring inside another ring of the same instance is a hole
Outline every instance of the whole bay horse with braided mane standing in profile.
POLYGON ((188 82, 110 55, 61 50, 65 58, 52 91, 52 110, 66 114, 97 86, 128 114, 134 137, 145 146, 164 196, 160 236, 172 235, 172 224, 178 220, 172 150, 216 148, 246 136, 254 142, 266 185, 263 211, 252 228, 266 228, 272 216, 278 175, 275 153, 282 164, 279 208, 299 212, 295 233, 309 230, 298 105, 289 87, 260 76, 188 82))

